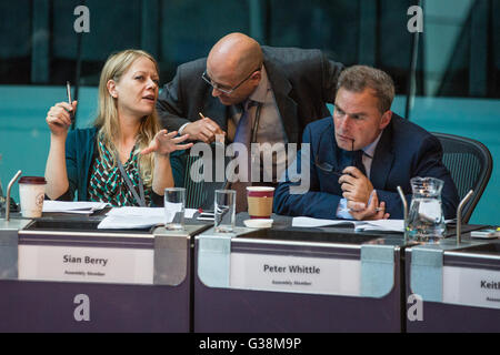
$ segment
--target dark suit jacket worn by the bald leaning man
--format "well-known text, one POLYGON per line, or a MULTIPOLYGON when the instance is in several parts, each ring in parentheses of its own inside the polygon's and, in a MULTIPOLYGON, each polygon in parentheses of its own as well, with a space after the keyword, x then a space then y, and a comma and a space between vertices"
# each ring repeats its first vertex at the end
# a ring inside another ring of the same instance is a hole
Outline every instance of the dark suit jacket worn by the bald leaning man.
MULTIPOLYGON (((262 47, 262 52, 288 140, 300 142, 308 123, 330 114, 326 103, 334 101, 343 65, 328 60, 319 50, 262 47)), ((212 87, 201 79, 206 69, 206 58, 181 64, 164 85, 157 109, 169 131, 199 120, 201 112, 227 132, 230 110, 212 97, 212 87)))

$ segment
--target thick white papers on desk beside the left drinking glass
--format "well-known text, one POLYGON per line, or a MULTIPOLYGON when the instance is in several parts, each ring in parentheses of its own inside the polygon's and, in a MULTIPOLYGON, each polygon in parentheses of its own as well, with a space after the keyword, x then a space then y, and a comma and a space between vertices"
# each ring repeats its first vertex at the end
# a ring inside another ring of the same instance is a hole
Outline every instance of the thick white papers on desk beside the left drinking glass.
MULTIPOLYGON (((197 210, 186 209, 184 217, 191 219, 197 210)), ((147 229, 162 225, 166 222, 163 207, 118 207, 108 212, 107 217, 99 223, 99 230, 147 229)))

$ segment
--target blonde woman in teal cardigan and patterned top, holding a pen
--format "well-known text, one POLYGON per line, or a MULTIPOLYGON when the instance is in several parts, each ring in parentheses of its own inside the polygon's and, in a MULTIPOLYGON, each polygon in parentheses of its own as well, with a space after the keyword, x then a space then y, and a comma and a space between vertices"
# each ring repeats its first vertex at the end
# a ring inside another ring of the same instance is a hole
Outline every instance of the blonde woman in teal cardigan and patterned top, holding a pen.
MULTIPOLYGON (((47 114, 50 151, 47 195, 52 200, 103 201, 113 206, 162 205, 174 185, 178 150, 188 135, 161 130, 156 102, 158 64, 147 52, 112 54, 99 82, 98 116, 92 128, 68 133, 72 104, 59 102, 47 114), (172 165, 173 174, 172 174, 172 165)), ((181 168, 181 166, 178 166, 181 168)))

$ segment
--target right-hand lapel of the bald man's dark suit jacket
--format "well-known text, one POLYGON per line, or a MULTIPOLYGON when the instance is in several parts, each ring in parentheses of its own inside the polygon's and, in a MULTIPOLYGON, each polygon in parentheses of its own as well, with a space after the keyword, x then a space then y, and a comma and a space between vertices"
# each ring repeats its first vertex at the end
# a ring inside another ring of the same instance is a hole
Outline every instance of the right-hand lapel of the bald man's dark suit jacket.
POLYGON ((276 104, 278 105, 278 111, 280 112, 288 140, 290 142, 299 142, 301 136, 299 136, 300 128, 299 119, 297 116, 297 102, 289 95, 292 91, 292 85, 288 81, 284 71, 278 65, 274 65, 268 59, 266 52, 263 64, 268 73, 269 81, 271 82, 276 104))

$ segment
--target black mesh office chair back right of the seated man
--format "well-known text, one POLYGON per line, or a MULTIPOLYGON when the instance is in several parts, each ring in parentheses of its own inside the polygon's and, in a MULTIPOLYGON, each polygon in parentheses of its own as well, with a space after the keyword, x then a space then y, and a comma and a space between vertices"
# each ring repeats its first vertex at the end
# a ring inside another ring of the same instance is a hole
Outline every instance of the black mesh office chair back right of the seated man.
POLYGON ((493 169, 491 153, 484 144, 469 138, 436 132, 432 134, 441 142, 442 162, 451 173, 460 200, 471 189, 474 191, 462 209, 462 223, 468 223, 490 180, 493 169))

